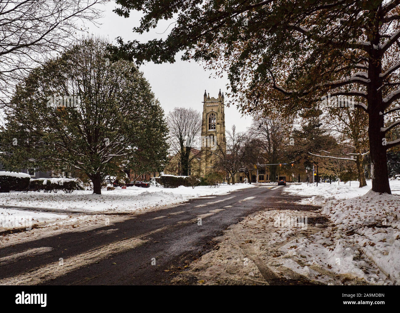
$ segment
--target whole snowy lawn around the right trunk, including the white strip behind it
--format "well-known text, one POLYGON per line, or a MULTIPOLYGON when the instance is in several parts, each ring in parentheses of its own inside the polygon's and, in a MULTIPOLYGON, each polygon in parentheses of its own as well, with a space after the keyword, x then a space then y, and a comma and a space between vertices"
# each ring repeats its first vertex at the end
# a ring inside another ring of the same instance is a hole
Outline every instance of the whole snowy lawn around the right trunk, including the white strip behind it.
POLYGON ((322 204, 330 227, 298 239, 296 248, 288 243, 287 255, 310 255, 310 264, 368 283, 400 284, 400 181, 390 181, 391 195, 373 192, 367 183, 364 188, 355 183, 290 186, 292 194, 316 195, 308 203, 322 204))

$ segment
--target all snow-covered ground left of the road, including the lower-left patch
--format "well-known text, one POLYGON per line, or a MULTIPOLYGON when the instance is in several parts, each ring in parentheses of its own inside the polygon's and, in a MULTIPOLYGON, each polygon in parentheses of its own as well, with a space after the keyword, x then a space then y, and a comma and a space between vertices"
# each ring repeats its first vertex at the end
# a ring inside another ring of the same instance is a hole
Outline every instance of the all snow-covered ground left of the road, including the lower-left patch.
POLYGON ((46 192, 10 192, 0 194, 0 227, 29 227, 30 224, 56 222, 68 218, 68 214, 104 214, 143 211, 150 208, 184 202, 190 198, 207 195, 228 194, 232 190, 249 188, 250 184, 223 184, 219 188, 208 186, 178 188, 127 187, 112 191, 102 190, 101 195, 92 191, 75 190, 71 194, 46 192), (28 210, 18 210, 26 207, 28 210), (37 209, 48 209, 54 212, 37 212, 37 209))

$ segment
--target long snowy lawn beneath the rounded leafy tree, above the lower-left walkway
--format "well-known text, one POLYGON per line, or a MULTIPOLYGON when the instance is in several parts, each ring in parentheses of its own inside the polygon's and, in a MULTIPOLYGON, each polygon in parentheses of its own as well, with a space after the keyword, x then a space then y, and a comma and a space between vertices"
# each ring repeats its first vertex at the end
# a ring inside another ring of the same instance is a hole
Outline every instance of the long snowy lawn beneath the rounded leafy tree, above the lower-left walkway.
MULTIPOLYGON (((71 194, 62 191, 46 192, 10 192, 0 194, 0 205, 10 207, 31 207, 58 209, 68 214, 74 211, 87 212, 132 212, 151 207, 161 207, 184 202, 190 198, 206 195, 222 195, 242 188, 252 187, 250 184, 221 185, 219 188, 208 186, 178 188, 153 187, 120 187, 112 191, 102 189, 102 194, 92 194, 92 191, 75 190, 71 194)), ((5 210, 5 209, 2 209, 5 210)))

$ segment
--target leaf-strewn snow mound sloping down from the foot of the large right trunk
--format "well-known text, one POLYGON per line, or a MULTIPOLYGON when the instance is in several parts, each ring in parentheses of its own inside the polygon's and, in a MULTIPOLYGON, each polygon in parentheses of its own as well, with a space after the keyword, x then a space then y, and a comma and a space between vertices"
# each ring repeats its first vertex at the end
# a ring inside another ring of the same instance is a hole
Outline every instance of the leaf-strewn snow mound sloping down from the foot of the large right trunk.
MULTIPOLYGON (((400 196, 380 194, 372 190, 363 196, 324 206, 324 214, 336 225, 335 249, 332 258, 341 265, 359 269, 358 276, 374 281, 361 270, 357 256, 373 261, 395 284, 400 284, 400 196)), ((346 270, 346 269, 345 269, 346 270)))

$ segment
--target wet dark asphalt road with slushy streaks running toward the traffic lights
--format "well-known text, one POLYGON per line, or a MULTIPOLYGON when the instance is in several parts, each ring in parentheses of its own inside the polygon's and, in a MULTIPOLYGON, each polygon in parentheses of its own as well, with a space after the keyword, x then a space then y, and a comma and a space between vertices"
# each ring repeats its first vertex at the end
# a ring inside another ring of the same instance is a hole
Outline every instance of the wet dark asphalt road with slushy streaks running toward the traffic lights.
POLYGON ((0 284, 168 284, 171 265, 184 270, 210 251, 216 244, 212 238, 228 226, 272 204, 281 206, 277 199, 290 198, 282 195, 284 188, 258 186, 200 197, 95 230, 1 248, 0 284))

